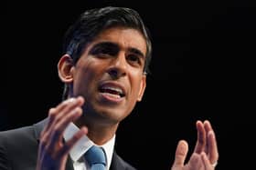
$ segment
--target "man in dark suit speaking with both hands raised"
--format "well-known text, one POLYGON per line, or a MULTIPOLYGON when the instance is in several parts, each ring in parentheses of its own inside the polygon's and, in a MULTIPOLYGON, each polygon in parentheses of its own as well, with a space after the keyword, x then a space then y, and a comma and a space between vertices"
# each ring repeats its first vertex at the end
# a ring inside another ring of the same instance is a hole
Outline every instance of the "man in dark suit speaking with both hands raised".
MULTIPOLYGON (((103 150, 105 169, 133 170, 114 151, 118 125, 142 100, 151 59, 151 41, 132 9, 86 11, 71 25, 59 59, 64 100, 36 125, 2 132, 0 169, 93 169, 87 153, 103 150)), ((173 170, 214 169, 218 148, 208 121, 197 121, 198 139, 185 165, 187 142, 176 148, 173 170)))

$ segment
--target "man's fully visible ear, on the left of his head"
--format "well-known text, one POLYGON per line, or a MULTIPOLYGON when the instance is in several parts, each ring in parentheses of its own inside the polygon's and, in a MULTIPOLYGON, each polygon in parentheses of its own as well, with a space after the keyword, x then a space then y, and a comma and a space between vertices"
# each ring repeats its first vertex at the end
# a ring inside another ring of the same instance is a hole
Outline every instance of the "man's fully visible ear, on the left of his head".
POLYGON ((70 55, 63 55, 59 59, 58 73, 63 83, 71 83, 73 81, 73 60, 70 55))

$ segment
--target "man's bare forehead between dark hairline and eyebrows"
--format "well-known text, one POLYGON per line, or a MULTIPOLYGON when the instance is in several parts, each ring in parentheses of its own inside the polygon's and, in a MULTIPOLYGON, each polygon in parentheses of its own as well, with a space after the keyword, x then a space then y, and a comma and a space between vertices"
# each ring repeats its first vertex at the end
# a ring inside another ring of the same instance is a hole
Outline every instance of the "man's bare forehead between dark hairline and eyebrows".
POLYGON ((127 27, 112 27, 102 31, 95 37, 91 45, 101 42, 112 42, 121 48, 136 48, 144 55, 146 53, 146 42, 144 35, 138 30, 127 27))

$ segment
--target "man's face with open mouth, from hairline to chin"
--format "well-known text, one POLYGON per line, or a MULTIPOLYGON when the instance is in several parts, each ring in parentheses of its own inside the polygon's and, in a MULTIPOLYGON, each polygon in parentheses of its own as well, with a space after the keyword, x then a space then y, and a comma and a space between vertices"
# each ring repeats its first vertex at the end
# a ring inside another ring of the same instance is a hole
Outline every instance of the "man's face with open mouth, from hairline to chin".
POLYGON ((101 32, 73 68, 73 93, 85 98, 85 115, 119 123, 129 115, 145 88, 146 43, 132 28, 101 32), (100 116, 99 116, 100 115, 100 116))

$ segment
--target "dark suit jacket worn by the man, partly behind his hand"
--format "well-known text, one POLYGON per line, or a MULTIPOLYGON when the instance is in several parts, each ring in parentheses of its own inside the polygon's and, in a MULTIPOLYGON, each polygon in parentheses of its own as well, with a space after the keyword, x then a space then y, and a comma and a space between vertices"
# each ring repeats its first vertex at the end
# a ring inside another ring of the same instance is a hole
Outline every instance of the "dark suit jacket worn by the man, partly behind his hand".
MULTIPOLYGON (((48 119, 35 125, 0 132, 0 170, 35 170, 40 132, 48 119)), ((73 170, 69 158, 67 170, 73 170)), ((135 170, 115 152, 111 170, 135 170)))

